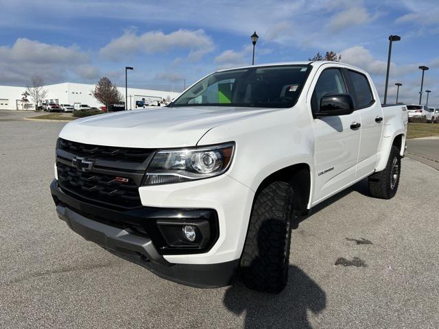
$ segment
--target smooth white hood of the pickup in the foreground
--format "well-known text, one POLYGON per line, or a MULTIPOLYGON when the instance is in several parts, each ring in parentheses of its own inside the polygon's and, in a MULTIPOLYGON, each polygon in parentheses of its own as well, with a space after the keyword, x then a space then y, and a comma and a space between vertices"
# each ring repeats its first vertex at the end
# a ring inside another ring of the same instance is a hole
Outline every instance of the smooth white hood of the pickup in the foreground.
POLYGON ((194 146, 213 127, 275 110, 224 106, 130 110, 71 121, 64 126, 60 137, 117 147, 194 146))

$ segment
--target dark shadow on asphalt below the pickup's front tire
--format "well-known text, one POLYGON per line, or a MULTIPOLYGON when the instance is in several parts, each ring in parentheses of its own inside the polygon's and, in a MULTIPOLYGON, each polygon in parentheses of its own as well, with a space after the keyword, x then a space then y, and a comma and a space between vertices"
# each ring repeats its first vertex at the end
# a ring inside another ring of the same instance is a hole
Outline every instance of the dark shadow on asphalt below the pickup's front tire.
POLYGON ((226 291, 224 306, 235 315, 246 313, 244 328, 312 328, 307 311, 324 310, 326 293, 294 265, 289 267, 288 282, 278 295, 251 291, 236 282, 226 291))

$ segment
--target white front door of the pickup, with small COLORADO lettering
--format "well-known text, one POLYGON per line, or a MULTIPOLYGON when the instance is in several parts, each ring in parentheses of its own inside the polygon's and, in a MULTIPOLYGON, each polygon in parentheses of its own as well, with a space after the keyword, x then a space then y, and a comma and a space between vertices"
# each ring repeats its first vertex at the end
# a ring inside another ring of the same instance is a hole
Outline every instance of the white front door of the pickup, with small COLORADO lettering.
MULTIPOLYGON (((318 112, 322 96, 351 91, 348 90, 340 67, 323 65, 317 77, 316 83, 311 84, 312 94, 308 102, 313 114, 318 112)), ((313 204, 333 195, 355 180, 360 129, 354 126, 359 120, 359 112, 313 119, 313 204)))

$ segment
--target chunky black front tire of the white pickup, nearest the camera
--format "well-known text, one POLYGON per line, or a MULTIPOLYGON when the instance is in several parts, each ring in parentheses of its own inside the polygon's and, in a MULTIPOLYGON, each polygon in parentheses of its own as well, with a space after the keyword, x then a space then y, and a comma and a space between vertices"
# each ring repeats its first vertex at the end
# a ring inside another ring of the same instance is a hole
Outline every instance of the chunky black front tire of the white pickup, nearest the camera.
POLYGON ((292 187, 273 182, 257 195, 241 256, 241 276, 250 289, 280 293, 287 285, 292 187))

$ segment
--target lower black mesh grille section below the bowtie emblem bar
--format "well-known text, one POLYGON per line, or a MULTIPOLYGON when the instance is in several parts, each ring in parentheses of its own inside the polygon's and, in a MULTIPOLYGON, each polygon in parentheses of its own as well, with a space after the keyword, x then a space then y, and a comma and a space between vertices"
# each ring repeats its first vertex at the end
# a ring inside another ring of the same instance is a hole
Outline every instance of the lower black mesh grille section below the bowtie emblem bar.
POLYGON ((141 206, 139 186, 132 178, 128 178, 128 182, 121 182, 120 178, 126 177, 79 171, 59 161, 56 167, 58 182, 64 192, 110 206, 141 206))

